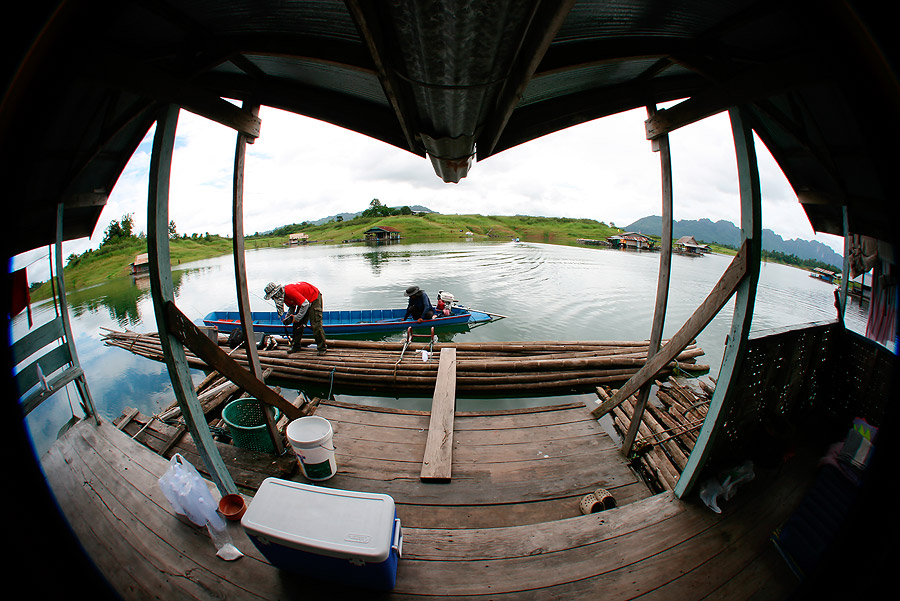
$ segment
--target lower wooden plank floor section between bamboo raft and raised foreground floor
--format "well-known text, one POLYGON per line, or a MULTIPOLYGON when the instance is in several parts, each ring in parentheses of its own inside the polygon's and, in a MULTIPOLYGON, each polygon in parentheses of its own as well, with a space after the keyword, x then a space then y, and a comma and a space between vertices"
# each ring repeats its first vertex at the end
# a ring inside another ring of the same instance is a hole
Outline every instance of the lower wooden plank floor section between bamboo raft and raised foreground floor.
POLYGON ((326 485, 379 492, 404 524, 473 528, 581 515, 580 501, 606 488, 627 504, 650 496, 581 404, 491 413, 457 412, 453 478, 420 480, 428 412, 323 402, 334 428, 338 474, 326 485))

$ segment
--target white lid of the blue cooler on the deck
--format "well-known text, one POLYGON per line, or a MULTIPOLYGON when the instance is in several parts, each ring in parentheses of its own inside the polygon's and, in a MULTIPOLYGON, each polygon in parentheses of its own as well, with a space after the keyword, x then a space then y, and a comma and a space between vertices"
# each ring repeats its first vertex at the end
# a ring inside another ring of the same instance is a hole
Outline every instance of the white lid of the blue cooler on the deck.
POLYGON ((241 525, 287 547, 380 563, 390 555, 394 517, 388 495, 267 478, 241 525))

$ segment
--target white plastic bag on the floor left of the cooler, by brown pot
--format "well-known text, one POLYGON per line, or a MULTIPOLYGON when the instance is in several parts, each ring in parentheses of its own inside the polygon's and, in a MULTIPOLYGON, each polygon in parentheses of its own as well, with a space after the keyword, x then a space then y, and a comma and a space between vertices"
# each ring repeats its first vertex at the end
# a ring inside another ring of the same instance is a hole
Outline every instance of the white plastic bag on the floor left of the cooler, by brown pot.
POLYGON ((190 461, 178 453, 173 455, 166 473, 159 479, 159 487, 176 514, 195 526, 207 528, 219 557, 230 561, 243 556, 232 544, 225 520, 216 513, 212 493, 190 461))

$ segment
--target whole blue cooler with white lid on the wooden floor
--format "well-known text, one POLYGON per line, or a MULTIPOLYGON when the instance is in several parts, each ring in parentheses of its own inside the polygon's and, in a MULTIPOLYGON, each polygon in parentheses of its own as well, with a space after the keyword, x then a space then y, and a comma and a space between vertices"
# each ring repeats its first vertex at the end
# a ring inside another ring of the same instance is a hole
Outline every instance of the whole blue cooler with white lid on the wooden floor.
POLYGON ((241 525, 272 565, 390 590, 403 546, 394 499, 267 478, 241 525))

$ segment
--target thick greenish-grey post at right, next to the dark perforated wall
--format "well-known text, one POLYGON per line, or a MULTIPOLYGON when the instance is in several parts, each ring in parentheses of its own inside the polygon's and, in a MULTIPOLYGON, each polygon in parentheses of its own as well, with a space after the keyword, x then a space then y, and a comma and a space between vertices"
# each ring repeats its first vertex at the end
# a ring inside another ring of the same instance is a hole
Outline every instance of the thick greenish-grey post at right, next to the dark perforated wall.
POLYGON ((759 281, 759 261, 762 247, 760 225, 760 187, 756 150, 753 146, 753 130, 741 109, 728 111, 731 117, 731 131, 734 136, 737 155, 738 180, 741 190, 741 238, 748 250, 747 276, 737 288, 734 300, 734 315, 731 332, 722 358, 722 367, 710 400, 709 410, 703 427, 697 435, 687 465, 675 485, 675 495, 684 497, 700 477, 712 451, 713 442, 722 428, 727 415, 726 409, 734 402, 734 384, 740 374, 741 364, 747 352, 747 336, 753 320, 753 306, 756 300, 756 285, 759 281))

